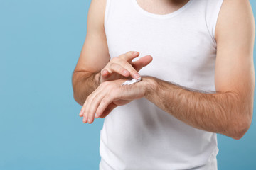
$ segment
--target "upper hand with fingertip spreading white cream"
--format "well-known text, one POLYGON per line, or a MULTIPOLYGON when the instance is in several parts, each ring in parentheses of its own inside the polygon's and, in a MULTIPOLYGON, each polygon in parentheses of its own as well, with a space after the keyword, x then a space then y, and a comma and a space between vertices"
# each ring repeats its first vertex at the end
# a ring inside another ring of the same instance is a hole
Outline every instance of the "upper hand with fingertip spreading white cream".
POLYGON ((104 81, 114 79, 122 79, 124 77, 132 77, 138 79, 139 70, 149 64, 153 58, 151 55, 146 55, 139 60, 132 62, 132 60, 139 56, 139 52, 127 52, 119 57, 113 57, 110 62, 100 71, 100 84, 104 81))

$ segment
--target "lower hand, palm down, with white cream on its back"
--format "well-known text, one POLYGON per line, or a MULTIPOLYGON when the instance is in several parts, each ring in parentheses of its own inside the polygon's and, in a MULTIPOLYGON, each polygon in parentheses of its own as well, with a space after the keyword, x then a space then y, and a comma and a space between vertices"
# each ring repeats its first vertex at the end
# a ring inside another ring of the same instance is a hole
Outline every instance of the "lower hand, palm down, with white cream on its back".
POLYGON ((143 78, 135 84, 122 86, 124 81, 127 79, 105 81, 87 97, 79 114, 83 116, 83 123, 92 123, 94 118, 105 118, 117 106, 145 96, 146 82, 143 78))

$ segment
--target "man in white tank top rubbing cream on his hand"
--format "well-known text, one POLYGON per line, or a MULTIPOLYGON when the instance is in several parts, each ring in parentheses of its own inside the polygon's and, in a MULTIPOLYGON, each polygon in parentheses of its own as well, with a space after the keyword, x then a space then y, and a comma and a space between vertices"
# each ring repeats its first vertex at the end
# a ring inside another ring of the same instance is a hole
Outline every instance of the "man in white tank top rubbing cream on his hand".
POLYGON ((105 118, 100 169, 217 169, 216 133, 252 121, 254 38, 248 0, 92 0, 73 89, 105 118))

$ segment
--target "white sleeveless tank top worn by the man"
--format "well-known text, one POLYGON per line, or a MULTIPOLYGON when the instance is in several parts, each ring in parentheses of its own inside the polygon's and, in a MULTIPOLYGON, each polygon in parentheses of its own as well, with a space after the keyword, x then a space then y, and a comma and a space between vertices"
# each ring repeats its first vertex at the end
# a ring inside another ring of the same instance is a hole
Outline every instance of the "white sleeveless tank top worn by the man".
MULTIPOLYGON (((166 15, 136 0, 107 0, 110 57, 151 55, 139 72, 181 86, 215 91, 215 26, 223 0, 190 0, 166 15)), ((198 130, 140 98, 107 115, 100 131, 100 169, 216 169, 217 135, 198 130), (207 166, 210 167, 210 166, 207 166)))

